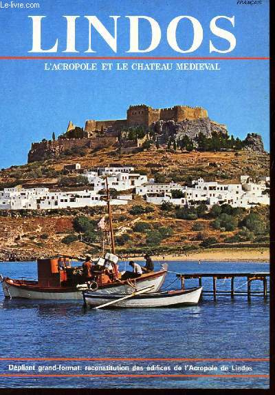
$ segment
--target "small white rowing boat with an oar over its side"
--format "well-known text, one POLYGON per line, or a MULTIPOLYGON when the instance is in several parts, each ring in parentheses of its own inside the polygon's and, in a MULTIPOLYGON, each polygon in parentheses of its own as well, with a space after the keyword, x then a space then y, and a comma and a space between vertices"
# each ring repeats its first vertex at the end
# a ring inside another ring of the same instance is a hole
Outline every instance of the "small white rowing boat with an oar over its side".
MULTIPOLYGON (((149 287, 150 288, 150 287, 149 287)), ((179 307, 184 305, 197 305, 201 296, 202 287, 189 290, 175 290, 166 292, 150 292, 148 288, 133 292, 130 295, 109 294, 83 291, 83 300, 86 307, 99 308, 138 308, 138 307, 179 307)))

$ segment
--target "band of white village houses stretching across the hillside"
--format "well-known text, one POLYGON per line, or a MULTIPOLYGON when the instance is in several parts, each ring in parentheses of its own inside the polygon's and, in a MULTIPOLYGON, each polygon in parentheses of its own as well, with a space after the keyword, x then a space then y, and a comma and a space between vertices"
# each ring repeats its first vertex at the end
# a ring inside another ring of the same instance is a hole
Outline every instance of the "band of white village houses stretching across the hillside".
POLYGON ((148 203, 161 205, 164 201, 173 205, 195 205, 205 202, 208 206, 229 203, 233 207, 249 208, 254 205, 269 205, 270 196, 267 185, 269 177, 262 177, 259 182, 253 182, 250 176, 241 176, 240 183, 218 183, 217 181, 192 181, 191 187, 179 183, 154 183, 146 175, 134 172, 133 167, 110 167, 85 170, 83 173, 89 181, 89 189, 69 192, 50 192, 48 188, 5 188, 0 191, 0 210, 20 209, 58 209, 70 207, 106 205, 101 194, 104 190, 105 179, 108 176, 109 188, 120 194, 112 199, 113 205, 125 205, 132 199, 132 191, 143 196, 148 203), (171 191, 180 190, 181 198, 172 198, 171 191))

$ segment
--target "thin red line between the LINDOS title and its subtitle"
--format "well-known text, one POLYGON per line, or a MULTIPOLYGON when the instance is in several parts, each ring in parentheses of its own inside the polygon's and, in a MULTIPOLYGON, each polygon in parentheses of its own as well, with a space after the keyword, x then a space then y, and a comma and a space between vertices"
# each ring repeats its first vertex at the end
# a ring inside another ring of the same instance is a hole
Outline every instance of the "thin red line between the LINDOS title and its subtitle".
POLYGON ((270 60, 269 57, 0 57, 0 60, 270 60))

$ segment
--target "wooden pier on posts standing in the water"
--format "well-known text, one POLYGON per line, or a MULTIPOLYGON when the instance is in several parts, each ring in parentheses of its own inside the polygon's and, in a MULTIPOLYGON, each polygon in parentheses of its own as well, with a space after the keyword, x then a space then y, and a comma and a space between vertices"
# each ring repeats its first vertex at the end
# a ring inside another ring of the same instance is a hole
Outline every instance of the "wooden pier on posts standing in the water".
POLYGON ((250 301, 251 296, 263 296, 263 298, 267 298, 270 292, 267 290, 267 277, 270 277, 270 272, 258 272, 258 273, 181 273, 177 274, 177 277, 181 279, 181 289, 184 290, 185 281, 190 278, 197 278, 199 281, 199 287, 203 287, 202 278, 212 278, 212 290, 204 290, 201 295, 213 295, 214 301, 217 300, 217 295, 230 295, 231 298, 234 296, 247 296, 250 301), (238 285, 234 287, 234 278, 239 277, 243 278, 245 283, 242 285, 238 285), (228 291, 219 291, 217 290, 217 280, 225 280, 230 279, 230 290, 228 291), (252 281, 262 281, 263 282, 263 291, 253 291, 252 290, 252 281), (245 287, 246 290, 240 290, 245 287))

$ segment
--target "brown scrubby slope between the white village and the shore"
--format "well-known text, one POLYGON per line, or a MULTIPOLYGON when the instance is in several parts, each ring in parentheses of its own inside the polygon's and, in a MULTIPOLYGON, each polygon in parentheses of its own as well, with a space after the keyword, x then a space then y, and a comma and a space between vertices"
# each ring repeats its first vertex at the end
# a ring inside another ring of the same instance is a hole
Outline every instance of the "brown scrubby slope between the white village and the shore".
MULTIPOLYGON (((263 223, 268 219, 267 207, 256 209, 263 223)), ((13 212, 10 216, 0 213, 0 259, 35 260, 55 254, 84 256, 98 254, 100 250, 97 231, 80 234, 74 226, 79 216, 98 223, 104 209, 55 210, 53 212, 13 212)), ((243 232, 241 226, 234 230, 213 227, 214 217, 180 219, 177 210, 163 211, 160 206, 148 205, 136 196, 129 205, 114 207, 113 225, 118 254, 188 254, 200 252, 210 244, 214 247, 268 247, 266 234, 257 236, 243 232), (137 208, 140 214, 137 214, 137 208), (148 208, 150 210, 148 210, 148 208), (140 228, 138 227, 140 226, 140 228), (141 226, 142 225, 142 226, 141 226), (206 241, 202 245, 203 241, 206 241)), ((248 212, 236 213, 235 221, 242 221, 248 212)))

